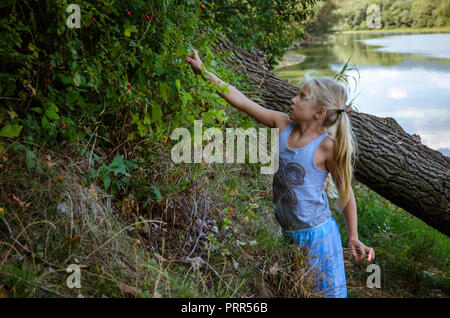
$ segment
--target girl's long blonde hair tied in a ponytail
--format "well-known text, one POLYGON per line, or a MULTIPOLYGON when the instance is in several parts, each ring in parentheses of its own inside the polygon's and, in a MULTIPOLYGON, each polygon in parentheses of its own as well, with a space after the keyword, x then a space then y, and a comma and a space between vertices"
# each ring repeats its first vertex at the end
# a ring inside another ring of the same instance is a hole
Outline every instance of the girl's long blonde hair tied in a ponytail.
POLYGON ((323 128, 336 140, 334 163, 337 180, 335 181, 340 189, 337 190, 336 184, 329 174, 325 190, 330 197, 338 198, 335 207, 343 210, 350 199, 353 166, 358 151, 349 118, 349 113, 354 109, 347 104, 348 86, 327 76, 312 78, 307 73, 300 84, 300 89, 302 88, 309 89, 316 102, 317 110, 323 108, 327 110, 323 128))

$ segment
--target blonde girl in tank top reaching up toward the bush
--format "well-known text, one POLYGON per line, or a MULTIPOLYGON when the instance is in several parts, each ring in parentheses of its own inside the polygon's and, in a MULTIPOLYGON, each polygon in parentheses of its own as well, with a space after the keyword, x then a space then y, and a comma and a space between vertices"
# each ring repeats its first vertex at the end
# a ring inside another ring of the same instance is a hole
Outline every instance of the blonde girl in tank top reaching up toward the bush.
POLYGON ((232 106, 279 129, 279 169, 273 177, 275 217, 283 236, 306 248, 309 266, 322 273, 316 283, 325 296, 347 297, 341 237, 327 194, 337 197, 339 193, 336 203, 345 218, 353 258, 359 262, 368 255, 370 262, 375 252, 358 239, 351 187, 356 144, 346 87, 328 77, 305 78, 286 115, 258 105, 208 72, 196 50, 186 61, 196 74, 201 75, 203 69, 205 80, 228 87, 229 94, 219 94, 232 106))

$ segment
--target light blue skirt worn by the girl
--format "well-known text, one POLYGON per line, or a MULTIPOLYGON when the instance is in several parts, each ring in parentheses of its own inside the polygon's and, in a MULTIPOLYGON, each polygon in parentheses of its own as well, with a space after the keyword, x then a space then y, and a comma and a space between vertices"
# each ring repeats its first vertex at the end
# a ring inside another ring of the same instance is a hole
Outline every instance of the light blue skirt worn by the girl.
POLYGON ((316 274, 315 283, 329 298, 347 298, 344 256, 336 220, 299 231, 283 231, 288 242, 295 242, 307 250, 308 266, 316 274))

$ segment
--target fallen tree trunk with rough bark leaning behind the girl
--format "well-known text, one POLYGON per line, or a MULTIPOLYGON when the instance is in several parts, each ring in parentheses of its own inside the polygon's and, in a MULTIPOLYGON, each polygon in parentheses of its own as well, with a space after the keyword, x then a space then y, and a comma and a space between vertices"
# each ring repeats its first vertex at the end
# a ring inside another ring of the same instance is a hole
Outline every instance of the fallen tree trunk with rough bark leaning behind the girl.
MULTIPOLYGON (((262 52, 234 46, 225 37, 216 50, 231 51, 230 64, 251 84, 246 95, 260 105, 285 110, 299 88, 269 71, 262 52)), ((409 135, 391 117, 353 112, 358 144, 354 177, 428 225, 450 235, 450 158, 409 135)))

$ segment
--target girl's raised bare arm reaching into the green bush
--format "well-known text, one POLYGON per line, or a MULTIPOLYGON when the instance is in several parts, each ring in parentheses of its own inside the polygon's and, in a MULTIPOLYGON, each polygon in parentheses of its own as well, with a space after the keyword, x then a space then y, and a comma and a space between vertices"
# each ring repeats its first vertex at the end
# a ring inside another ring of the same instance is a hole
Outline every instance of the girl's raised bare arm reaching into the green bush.
POLYGON ((232 85, 222 81, 215 74, 208 72, 204 67, 202 61, 198 57, 198 53, 195 49, 192 50, 192 54, 189 55, 186 61, 191 64, 192 69, 198 75, 202 75, 202 69, 204 69, 203 78, 205 80, 210 81, 219 87, 223 87, 225 85, 225 87, 227 87, 229 90, 229 94, 226 92, 219 92, 219 95, 233 107, 252 116, 257 122, 270 128, 278 127, 281 129, 290 122, 289 116, 287 116, 286 114, 262 107, 261 105, 247 98, 232 85))

